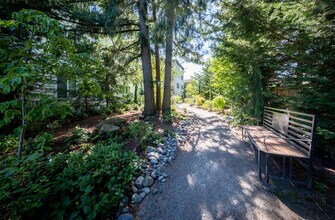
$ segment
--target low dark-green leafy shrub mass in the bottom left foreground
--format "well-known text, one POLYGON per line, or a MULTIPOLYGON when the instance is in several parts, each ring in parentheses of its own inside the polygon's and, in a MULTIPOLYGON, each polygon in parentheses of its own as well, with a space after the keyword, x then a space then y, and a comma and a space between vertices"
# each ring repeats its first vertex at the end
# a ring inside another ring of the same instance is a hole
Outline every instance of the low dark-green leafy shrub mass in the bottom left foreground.
POLYGON ((115 143, 89 153, 44 156, 0 164, 0 218, 94 219, 110 217, 127 200, 136 156, 115 143))

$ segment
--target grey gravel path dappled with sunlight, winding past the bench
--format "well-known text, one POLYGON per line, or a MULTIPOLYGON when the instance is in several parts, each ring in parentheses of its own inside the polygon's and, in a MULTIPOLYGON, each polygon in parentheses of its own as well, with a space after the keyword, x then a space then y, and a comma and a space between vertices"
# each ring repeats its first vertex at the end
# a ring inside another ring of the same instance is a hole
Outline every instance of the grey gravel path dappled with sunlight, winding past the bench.
POLYGON ((252 150, 215 113, 181 105, 199 118, 189 144, 165 168, 160 192, 137 219, 300 219, 258 181, 252 150))

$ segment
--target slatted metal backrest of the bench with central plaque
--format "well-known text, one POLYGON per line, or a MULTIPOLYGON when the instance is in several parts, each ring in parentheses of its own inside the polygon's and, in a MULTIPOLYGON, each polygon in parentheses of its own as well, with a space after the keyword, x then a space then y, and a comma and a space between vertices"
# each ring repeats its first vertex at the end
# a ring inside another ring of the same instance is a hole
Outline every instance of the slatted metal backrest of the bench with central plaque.
POLYGON ((265 107, 263 126, 288 138, 294 147, 311 157, 315 142, 315 115, 265 107))

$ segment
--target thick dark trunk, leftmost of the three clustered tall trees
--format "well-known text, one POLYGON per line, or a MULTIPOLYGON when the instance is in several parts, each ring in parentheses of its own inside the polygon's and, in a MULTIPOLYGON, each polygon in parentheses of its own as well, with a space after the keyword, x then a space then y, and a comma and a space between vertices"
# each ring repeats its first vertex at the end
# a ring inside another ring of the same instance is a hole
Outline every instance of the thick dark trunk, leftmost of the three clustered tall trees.
POLYGON ((140 19, 140 40, 141 40, 141 59, 144 84, 144 116, 155 114, 154 91, 152 83, 152 67, 149 43, 149 30, 147 21, 147 3, 146 0, 138 1, 138 11, 140 19))

